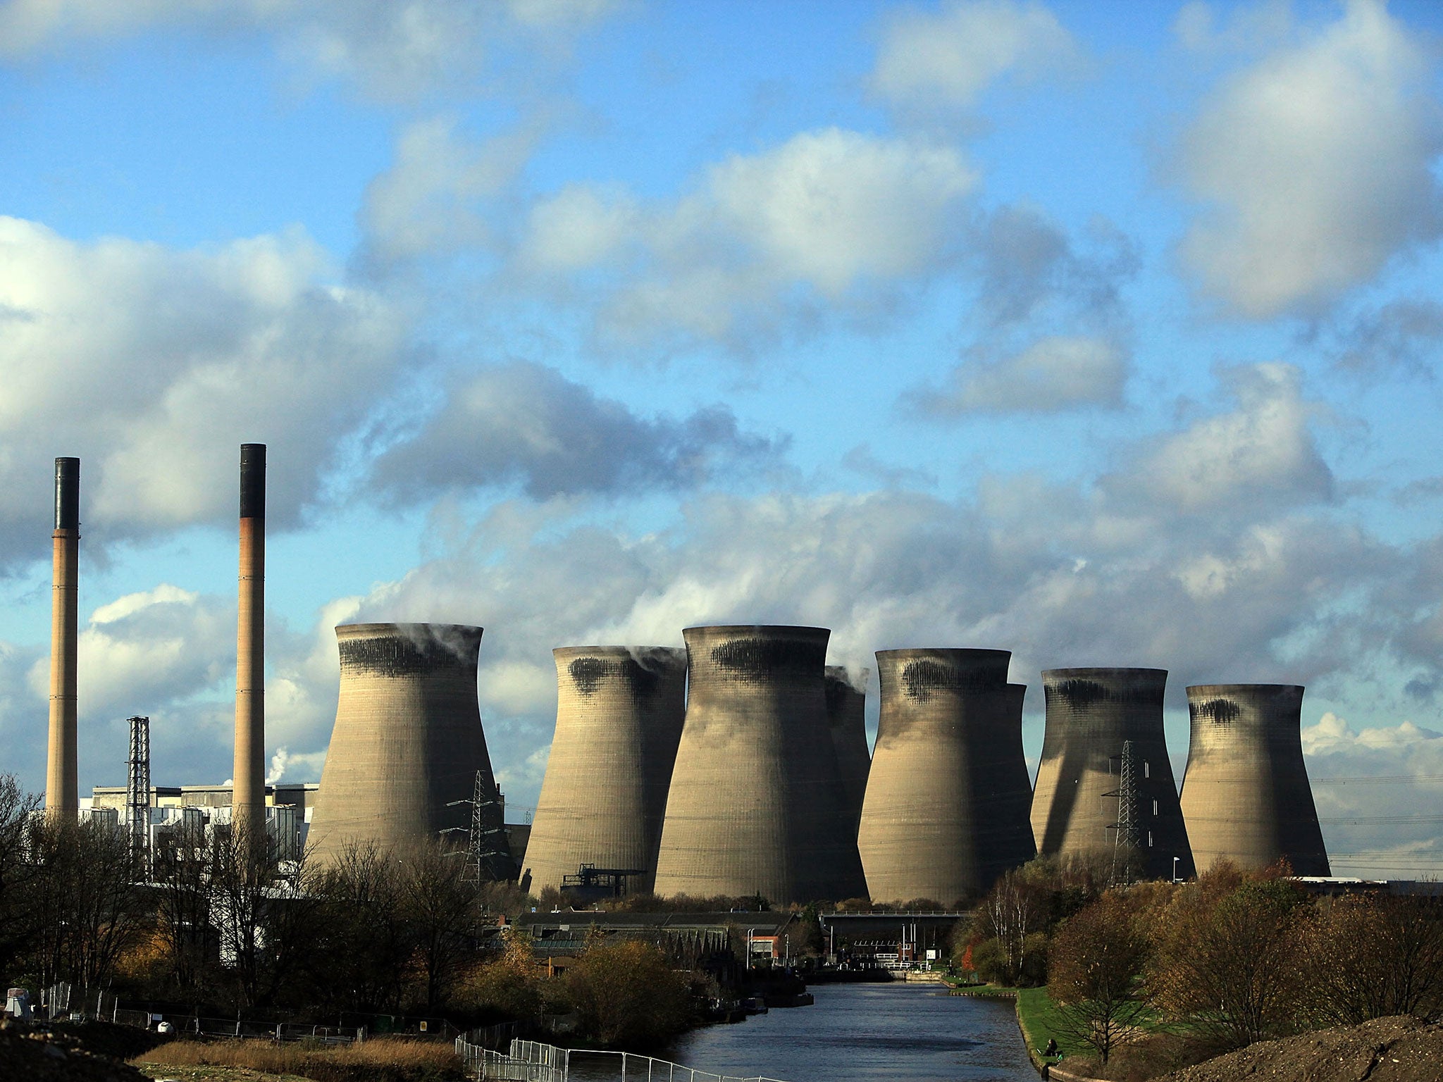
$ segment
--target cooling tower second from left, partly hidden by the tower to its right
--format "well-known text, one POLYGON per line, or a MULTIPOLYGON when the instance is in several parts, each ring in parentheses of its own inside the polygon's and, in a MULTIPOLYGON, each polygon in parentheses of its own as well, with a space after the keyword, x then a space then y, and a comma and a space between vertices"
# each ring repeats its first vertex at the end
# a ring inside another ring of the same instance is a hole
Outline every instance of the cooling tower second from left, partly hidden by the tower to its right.
POLYGON ((644 871, 649 892, 687 710, 687 654, 664 646, 566 646, 556 656, 556 734, 522 867, 531 890, 582 864, 644 871))

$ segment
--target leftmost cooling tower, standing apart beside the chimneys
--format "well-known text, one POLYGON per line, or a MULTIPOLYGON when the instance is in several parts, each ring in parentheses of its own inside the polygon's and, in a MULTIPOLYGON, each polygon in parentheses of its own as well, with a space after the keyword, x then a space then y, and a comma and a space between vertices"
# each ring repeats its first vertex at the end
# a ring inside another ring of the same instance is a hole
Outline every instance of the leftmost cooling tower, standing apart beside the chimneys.
MULTIPOLYGON (((465 844, 478 770, 496 796, 476 707, 481 628, 351 623, 336 628, 336 642, 341 700, 310 822, 316 857, 348 843, 401 848, 442 831, 465 844)), ((499 798, 483 817, 488 832, 502 830, 499 798)))

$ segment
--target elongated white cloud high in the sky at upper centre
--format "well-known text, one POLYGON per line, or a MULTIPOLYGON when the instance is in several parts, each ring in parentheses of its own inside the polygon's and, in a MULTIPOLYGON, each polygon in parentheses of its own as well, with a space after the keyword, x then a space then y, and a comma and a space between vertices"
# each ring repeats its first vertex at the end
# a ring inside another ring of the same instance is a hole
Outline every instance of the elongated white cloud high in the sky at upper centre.
POLYGON ((646 203, 573 185, 531 211, 518 268, 593 290, 602 338, 740 340, 867 310, 957 257, 975 175, 947 146, 804 131, 646 203))

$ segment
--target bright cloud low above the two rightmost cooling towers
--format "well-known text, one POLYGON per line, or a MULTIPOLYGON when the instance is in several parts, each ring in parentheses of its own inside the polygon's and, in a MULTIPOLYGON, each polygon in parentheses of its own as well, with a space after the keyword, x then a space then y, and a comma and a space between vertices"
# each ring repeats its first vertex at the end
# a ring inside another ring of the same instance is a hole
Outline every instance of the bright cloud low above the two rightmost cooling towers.
POLYGON ((1332 472, 1309 427, 1316 407, 1303 400, 1291 365, 1222 369, 1237 400, 1229 413, 1203 417, 1143 450, 1115 482, 1183 511, 1289 506, 1332 498, 1332 472))

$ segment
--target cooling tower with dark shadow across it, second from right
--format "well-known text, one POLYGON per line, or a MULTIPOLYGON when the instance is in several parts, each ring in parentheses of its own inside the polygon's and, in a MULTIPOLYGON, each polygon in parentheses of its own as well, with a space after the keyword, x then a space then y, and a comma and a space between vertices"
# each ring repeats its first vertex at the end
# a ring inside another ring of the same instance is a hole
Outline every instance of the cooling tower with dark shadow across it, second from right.
POLYGON ((1173 857, 1179 876, 1193 874, 1163 736, 1166 684, 1166 669, 1042 674, 1048 724, 1032 798, 1039 853, 1115 856, 1121 834, 1143 876, 1170 877, 1173 857))

